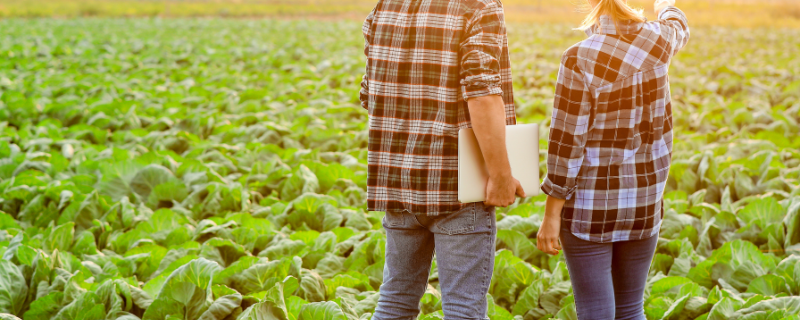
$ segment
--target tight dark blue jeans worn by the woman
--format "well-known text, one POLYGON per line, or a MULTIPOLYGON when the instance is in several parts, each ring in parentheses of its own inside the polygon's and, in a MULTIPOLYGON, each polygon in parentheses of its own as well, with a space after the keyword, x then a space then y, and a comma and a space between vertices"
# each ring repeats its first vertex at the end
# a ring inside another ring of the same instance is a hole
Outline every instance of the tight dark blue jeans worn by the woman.
POLYGON ((560 238, 578 319, 645 320, 644 286, 658 236, 590 242, 575 237, 562 221, 560 238))

